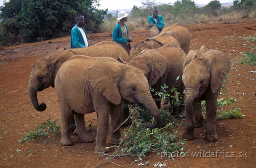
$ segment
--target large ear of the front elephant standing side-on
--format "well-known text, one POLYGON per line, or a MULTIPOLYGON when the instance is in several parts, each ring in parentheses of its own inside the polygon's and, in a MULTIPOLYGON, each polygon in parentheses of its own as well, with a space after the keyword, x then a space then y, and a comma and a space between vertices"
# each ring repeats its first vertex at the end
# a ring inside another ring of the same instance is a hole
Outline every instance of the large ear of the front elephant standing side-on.
POLYGON ((114 58, 102 57, 88 68, 90 85, 115 105, 121 103, 117 72, 120 72, 123 65, 114 58))

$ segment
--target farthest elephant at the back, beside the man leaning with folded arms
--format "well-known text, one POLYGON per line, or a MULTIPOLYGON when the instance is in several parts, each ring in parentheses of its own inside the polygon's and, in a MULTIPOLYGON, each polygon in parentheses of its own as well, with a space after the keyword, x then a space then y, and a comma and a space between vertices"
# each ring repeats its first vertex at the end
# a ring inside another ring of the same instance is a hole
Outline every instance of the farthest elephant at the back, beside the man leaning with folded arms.
POLYGON ((163 28, 162 32, 169 32, 170 30, 174 30, 174 31, 178 32, 178 34, 180 35, 180 38, 176 39, 176 40, 178 40, 178 42, 180 44, 180 48, 186 54, 188 54, 188 51, 190 48, 190 41, 191 41, 191 37, 190 37, 190 33, 189 33, 188 29, 183 26, 179 26, 178 24, 174 24, 172 26, 163 28))

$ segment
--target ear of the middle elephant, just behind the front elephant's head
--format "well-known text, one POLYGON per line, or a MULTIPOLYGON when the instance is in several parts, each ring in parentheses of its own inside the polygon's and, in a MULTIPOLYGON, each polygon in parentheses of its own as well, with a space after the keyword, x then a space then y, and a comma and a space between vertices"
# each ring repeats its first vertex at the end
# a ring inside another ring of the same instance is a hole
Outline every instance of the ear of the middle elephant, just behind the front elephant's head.
MULTIPOLYGON (((151 87, 153 85, 155 85, 158 81, 158 79, 160 77, 162 77, 164 75, 164 73, 166 72, 166 68, 168 66, 168 61, 167 59, 161 55, 160 53, 156 52, 156 51, 150 51, 150 50, 147 50, 146 52, 150 52, 150 54, 145 54, 145 56, 148 56, 148 55, 152 55, 151 57, 151 71, 150 71, 150 74, 148 76, 148 85, 151 87)), ((146 53, 145 52, 145 53, 146 53)), ((142 54, 142 56, 144 56, 144 54, 142 54)))

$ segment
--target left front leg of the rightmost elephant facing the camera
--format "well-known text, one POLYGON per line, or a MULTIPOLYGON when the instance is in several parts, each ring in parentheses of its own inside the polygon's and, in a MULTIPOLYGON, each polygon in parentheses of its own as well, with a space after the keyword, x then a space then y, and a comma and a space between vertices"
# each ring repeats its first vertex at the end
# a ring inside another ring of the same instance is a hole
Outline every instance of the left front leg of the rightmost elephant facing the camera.
POLYGON ((193 140, 194 138, 196 138, 196 136, 194 134, 194 128, 195 128, 194 119, 195 119, 196 110, 197 110, 197 107, 195 105, 194 111, 192 111, 191 113, 186 111, 186 125, 185 125, 185 129, 184 129, 184 133, 182 135, 183 139, 193 140))

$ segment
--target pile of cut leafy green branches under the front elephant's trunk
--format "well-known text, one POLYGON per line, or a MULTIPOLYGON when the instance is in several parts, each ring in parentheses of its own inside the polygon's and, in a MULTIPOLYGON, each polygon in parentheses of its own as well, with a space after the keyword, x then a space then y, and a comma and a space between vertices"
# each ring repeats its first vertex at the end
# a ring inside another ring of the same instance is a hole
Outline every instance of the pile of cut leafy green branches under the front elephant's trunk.
POLYGON ((184 140, 179 139, 176 126, 180 126, 180 122, 174 119, 170 113, 160 110, 162 116, 162 128, 144 128, 143 123, 146 121, 153 122, 154 117, 145 107, 131 105, 132 124, 124 128, 124 138, 120 138, 121 142, 116 151, 112 155, 106 156, 138 156, 144 157, 151 152, 175 152, 183 151, 184 140), (134 111, 138 109, 137 111, 134 111), (167 124, 163 124, 167 123, 167 124))

